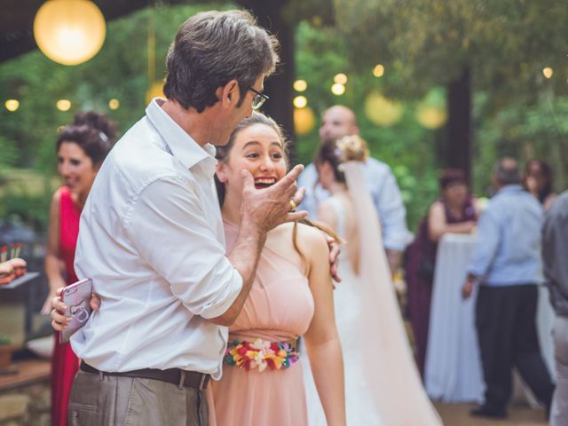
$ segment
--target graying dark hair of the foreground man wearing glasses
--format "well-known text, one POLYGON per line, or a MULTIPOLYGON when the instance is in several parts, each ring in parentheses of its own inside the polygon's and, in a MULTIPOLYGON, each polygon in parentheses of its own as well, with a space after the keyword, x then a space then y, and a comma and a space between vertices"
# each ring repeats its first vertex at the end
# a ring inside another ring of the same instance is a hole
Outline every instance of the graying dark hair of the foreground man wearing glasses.
POLYGON ((256 25, 248 12, 201 12, 177 31, 166 59, 163 92, 185 109, 201 113, 219 100, 215 91, 231 80, 239 83, 241 102, 261 75, 279 61, 278 41, 256 25))

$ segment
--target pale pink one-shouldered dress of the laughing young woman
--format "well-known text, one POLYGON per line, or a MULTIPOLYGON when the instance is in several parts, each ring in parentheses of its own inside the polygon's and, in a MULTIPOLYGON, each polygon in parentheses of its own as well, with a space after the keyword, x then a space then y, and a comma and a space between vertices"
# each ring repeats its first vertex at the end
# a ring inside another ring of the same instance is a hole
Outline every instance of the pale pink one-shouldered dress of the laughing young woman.
MULTIPOLYGON (((225 223, 227 250, 233 248, 237 228, 225 223)), ((244 308, 232 327, 229 342, 268 342, 296 339, 310 326, 313 298, 301 266, 264 247, 256 279, 244 308)), ((259 372, 225 364, 223 378, 212 383, 218 426, 297 426, 308 422, 302 358, 291 367, 259 372)))

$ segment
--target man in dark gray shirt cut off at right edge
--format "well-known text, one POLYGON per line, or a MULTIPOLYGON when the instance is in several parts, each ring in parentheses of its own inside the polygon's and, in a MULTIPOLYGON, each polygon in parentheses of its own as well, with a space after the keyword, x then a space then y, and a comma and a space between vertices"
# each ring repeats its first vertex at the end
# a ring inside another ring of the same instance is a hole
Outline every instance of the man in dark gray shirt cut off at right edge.
POLYGON ((556 311, 556 391, 551 426, 568 424, 568 191, 552 203, 542 228, 542 261, 550 302, 556 311))

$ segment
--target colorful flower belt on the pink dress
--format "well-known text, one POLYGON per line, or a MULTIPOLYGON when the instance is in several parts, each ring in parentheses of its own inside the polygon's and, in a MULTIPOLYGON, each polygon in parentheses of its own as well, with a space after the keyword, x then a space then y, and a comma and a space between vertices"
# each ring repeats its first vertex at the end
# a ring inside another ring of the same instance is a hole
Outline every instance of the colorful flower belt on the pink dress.
POLYGON ((254 342, 235 340, 227 344, 223 362, 246 370, 258 368, 258 371, 264 371, 266 367, 271 367, 272 370, 289 368, 300 356, 299 352, 296 352, 296 343, 297 341, 265 342, 262 339, 256 339, 254 342))

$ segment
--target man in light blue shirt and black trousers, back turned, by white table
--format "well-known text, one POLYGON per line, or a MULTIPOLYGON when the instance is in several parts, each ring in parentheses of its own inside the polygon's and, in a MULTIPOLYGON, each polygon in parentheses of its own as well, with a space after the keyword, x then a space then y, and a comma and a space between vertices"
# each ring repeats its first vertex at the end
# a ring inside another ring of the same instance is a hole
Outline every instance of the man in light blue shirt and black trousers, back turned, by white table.
POLYGON ((498 191, 477 224, 477 245, 462 288, 469 297, 474 283, 480 284, 476 327, 486 389, 485 403, 471 411, 477 416, 507 416, 512 367, 547 414, 554 391, 536 331, 543 212, 520 182, 515 160, 504 158, 495 166, 498 191))

